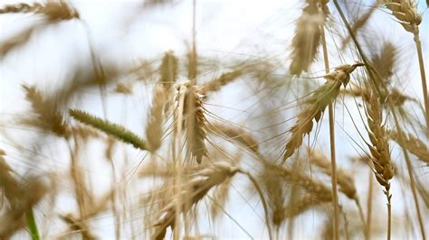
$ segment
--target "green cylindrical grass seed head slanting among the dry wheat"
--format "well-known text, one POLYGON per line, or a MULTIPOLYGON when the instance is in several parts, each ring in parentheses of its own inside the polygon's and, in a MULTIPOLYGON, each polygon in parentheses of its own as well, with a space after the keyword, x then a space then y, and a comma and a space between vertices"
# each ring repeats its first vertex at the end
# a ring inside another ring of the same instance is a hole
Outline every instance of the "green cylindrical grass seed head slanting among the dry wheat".
POLYGON ((124 143, 129 143, 141 150, 148 150, 147 143, 143 139, 121 125, 110 123, 109 121, 103 120, 100 117, 90 115, 77 109, 69 109, 69 115, 82 124, 91 125, 105 134, 116 137, 124 143))

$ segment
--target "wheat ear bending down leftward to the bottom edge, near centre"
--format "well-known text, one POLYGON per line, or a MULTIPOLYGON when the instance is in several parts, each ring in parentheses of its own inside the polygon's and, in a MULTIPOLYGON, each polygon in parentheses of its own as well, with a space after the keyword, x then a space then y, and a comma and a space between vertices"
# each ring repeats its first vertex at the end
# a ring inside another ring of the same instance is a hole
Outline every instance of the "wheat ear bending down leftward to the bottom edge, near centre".
MULTIPOLYGON (((189 209, 198 203, 205 194, 213 187, 221 184, 224 180, 232 178, 238 168, 231 166, 228 162, 215 162, 213 165, 208 165, 206 168, 197 171, 189 176, 190 179, 184 182, 184 186, 180 192, 180 203, 182 204, 182 212, 186 214, 189 209)), ((175 195, 176 196, 176 195, 175 195)), ((154 224, 156 226, 153 239, 163 239, 166 235, 167 227, 174 228, 176 218, 176 198, 169 201, 165 208, 160 210, 159 217, 154 224)))

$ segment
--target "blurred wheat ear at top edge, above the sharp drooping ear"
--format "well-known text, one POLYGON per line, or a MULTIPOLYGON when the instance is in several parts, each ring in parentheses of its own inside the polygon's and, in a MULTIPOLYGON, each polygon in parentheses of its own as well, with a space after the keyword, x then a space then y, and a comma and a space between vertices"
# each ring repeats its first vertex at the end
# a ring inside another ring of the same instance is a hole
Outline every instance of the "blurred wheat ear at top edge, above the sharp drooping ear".
POLYGON ((320 28, 324 27, 329 15, 328 0, 307 0, 302 14, 296 23, 295 35, 291 42, 291 74, 300 75, 308 71, 316 59, 320 44, 320 28), (318 4, 322 5, 319 12, 318 4))

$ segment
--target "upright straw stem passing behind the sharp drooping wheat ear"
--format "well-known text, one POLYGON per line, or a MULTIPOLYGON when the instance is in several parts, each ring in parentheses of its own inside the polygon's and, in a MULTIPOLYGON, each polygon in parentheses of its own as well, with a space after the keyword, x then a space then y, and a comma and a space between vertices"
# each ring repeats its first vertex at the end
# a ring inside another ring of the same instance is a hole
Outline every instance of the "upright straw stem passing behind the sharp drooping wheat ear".
MULTIPOLYGON (((328 48, 325 38, 324 26, 320 26, 321 42, 323 47, 323 60, 325 61, 325 72, 329 73, 328 48)), ((331 181, 332 181, 332 204, 334 205, 334 239, 339 239, 339 219, 338 219, 338 190, 337 190, 337 161, 335 156, 335 128, 334 128, 334 109, 332 103, 329 104, 329 141, 330 141, 330 162, 331 162, 331 181)))

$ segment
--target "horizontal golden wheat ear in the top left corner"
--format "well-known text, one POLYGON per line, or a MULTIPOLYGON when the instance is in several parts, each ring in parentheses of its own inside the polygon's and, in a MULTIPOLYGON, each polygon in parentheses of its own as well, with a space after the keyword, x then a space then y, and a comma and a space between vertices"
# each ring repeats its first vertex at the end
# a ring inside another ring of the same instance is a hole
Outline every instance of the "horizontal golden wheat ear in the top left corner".
POLYGON ((33 5, 5 5, 4 8, 0 9, 0 14, 12 13, 43 14, 47 16, 49 21, 70 20, 73 18, 79 18, 79 13, 70 5, 67 5, 67 3, 64 1, 47 2, 44 4, 33 3, 33 5))

